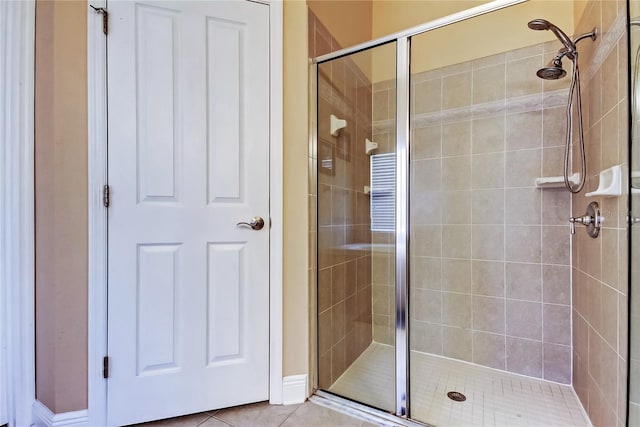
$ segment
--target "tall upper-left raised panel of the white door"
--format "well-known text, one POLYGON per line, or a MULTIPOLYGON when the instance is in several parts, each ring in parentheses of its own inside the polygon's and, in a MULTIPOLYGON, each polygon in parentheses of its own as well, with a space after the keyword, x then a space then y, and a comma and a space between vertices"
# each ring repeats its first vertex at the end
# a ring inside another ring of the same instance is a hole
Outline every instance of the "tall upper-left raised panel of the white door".
POLYGON ((136 5, 138 201, 177 201, 181 111, 179 12, 136 5))

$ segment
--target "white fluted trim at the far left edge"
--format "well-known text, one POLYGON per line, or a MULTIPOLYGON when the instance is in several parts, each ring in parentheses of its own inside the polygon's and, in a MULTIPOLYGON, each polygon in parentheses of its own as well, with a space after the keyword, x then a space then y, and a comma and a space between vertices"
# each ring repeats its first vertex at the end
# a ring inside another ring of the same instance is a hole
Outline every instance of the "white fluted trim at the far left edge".
POLYGON ((35 402, 35 2, 0 1, 0 381, 9 425, 35 402))

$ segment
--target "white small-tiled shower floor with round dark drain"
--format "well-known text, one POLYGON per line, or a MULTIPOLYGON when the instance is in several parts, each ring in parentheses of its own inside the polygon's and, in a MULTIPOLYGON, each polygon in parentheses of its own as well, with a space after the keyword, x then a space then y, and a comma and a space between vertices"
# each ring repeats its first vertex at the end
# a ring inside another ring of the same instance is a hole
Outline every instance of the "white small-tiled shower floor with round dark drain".
MULTIPOLYGON (((394 348, 372 343, 330 392, 395 406, 394 348)), ((590 426, 570 386, 411 352, 411 418, 435 426, 590 426), (446 393, 463 393, 454 402, 446 393)))

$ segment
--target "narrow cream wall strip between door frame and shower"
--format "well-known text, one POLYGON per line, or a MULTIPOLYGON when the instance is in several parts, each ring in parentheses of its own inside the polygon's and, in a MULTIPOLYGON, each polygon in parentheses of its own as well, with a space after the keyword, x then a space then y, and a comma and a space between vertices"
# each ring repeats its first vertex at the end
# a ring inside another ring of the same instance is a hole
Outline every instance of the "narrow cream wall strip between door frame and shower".
POLYGON ((307 5, 284 2, 284 375, 309 372, 307 5))

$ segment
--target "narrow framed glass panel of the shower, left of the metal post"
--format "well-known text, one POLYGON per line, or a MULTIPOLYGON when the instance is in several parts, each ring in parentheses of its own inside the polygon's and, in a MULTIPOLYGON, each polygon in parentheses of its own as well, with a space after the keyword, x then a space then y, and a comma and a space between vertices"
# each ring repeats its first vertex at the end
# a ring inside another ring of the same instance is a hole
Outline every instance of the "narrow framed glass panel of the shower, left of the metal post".
POLYGON ((395 58, 389 43, 318 64, 315 135, 318 386, 390 412, 396 97, 384 73, 395 58))

